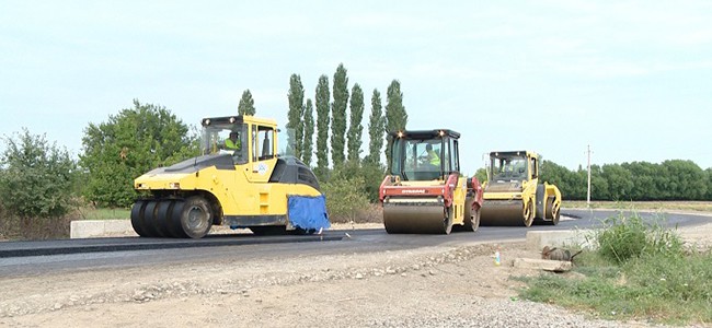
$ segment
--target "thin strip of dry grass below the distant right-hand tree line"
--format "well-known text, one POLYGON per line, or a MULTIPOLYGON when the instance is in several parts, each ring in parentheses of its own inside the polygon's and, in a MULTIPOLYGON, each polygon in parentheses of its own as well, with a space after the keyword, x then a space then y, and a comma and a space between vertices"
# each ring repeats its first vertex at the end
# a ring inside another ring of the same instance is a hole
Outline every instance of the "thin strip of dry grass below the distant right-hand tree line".
MULTIPOLYGON (((586 208, 586 201, 564 200, 563 208, 586 208)), ((592 201, 592 209, 712 212, 712 201, 592 201)))

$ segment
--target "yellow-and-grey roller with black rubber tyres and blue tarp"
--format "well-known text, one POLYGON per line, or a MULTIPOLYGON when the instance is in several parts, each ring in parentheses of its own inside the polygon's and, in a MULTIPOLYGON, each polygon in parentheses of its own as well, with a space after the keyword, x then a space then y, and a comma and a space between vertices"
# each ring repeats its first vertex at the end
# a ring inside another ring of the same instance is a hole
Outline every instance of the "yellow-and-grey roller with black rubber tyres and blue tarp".
POLYGON ((141 195, 130 214, 136 233, 202 238, 214 224, 254 234, 330 226, 317 177, 287 154, 294 148, 278 148, 290 134, 278 134, 274 120, 238 115, 204 118, 202 126, 203 155, 135 179, 141 195))

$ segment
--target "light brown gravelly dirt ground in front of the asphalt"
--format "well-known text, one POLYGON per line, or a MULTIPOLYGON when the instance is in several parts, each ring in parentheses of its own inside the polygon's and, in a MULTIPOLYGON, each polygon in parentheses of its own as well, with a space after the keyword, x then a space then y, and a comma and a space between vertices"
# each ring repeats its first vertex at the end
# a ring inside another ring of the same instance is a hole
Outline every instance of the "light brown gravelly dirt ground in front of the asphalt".
MULTIPOLYGON (((712 223, 680 233, 709 247, 712 223)), ((512 278, 540 272, 512 262, 539 256, 518 242, 0 278, 0 326, 647 326, 518 300, 512 278)))

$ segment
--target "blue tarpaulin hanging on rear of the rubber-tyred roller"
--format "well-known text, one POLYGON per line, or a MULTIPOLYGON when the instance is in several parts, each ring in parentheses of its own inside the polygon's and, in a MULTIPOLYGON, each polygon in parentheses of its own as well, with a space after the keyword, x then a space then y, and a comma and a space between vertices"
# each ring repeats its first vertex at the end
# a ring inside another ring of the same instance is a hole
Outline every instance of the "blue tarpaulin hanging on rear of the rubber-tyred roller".
POLYGON ((287 211, 289 222, 303 230, 328 229, 331 226, 326 214, 326 198, 321 196, 288 196, 287 211))

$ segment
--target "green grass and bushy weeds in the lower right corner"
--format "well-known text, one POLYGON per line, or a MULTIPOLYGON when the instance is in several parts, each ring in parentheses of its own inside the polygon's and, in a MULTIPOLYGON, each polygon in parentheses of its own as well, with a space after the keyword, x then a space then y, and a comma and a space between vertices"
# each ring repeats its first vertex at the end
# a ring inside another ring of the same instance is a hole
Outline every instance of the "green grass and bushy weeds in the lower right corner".
POLYGON ((611 218, 599 248, 575 260, 578 274, 524 277, 520 296, 608 319, 712 323, 712 253, 688 250, 674 231, 640 216, 611 218))

